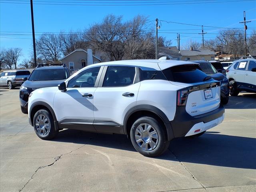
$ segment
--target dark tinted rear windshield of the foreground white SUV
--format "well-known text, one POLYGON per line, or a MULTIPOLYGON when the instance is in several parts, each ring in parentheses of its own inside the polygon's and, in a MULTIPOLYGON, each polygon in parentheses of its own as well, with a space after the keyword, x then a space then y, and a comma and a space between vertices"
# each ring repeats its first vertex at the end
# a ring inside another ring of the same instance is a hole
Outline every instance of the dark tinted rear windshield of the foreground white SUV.
POLYGON ((163 70, 163 73, 169 81, 174 82, 197 83, 209 80, 198 65, 178 65, 163 70))

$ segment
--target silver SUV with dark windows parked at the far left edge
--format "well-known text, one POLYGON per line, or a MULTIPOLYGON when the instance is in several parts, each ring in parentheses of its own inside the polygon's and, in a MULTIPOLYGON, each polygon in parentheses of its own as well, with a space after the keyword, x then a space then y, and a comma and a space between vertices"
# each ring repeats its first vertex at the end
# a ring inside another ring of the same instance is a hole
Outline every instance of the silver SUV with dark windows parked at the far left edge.
POLYGON ((30 72, 28 70, 10 70, 0 74, 0 86, 7 86, 13 89, 16 86, 21 86, 24 78, 28 78, 30 72))

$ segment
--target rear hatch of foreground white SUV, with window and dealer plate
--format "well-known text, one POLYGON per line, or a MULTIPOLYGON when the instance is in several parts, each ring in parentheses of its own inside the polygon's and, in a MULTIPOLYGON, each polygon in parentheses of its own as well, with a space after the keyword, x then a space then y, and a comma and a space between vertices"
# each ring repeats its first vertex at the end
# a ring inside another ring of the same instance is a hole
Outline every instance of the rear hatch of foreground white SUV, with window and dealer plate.
POLYGON ((197 116, 216 110, 220 106, 220 82, 200 70, 198 64, 183 64, 162 70, 177 91, 177 106, 197 116))

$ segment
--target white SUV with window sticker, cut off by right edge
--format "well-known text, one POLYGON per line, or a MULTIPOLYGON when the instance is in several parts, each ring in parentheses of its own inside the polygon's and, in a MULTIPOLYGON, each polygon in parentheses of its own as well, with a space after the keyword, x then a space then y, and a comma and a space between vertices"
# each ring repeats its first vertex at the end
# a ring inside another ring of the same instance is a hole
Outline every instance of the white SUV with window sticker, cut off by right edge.
POLYGON ((240 91, 256 93, 256 59, 236 60, 227 69, 230 95, 237 96, 240 91))

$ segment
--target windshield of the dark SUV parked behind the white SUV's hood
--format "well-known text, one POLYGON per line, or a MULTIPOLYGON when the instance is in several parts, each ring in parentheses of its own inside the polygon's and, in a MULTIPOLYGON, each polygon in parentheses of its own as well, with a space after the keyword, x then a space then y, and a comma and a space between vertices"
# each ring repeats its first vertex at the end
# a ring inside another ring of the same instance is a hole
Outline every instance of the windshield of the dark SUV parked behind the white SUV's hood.
POLYGON ((29 77, 29 81, 50 81, 66 79, 65 69, 42 69, 34 70, 29 77))

